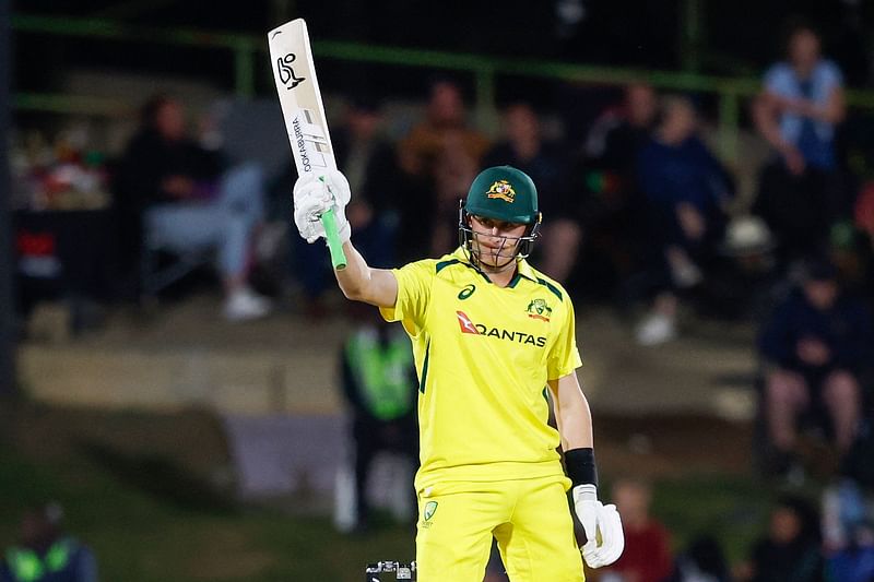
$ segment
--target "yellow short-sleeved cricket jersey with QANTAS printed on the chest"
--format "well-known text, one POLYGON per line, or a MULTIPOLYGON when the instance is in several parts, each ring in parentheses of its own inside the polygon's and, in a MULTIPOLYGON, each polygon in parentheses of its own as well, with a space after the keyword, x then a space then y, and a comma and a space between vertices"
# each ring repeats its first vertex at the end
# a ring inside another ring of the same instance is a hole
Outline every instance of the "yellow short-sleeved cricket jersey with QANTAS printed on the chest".
POLYGON ((567 293, 524 260, 498 287, 461 248, 393 273, 398 300, 381 312, 401 321, 413 342, 416 489, 562 475, 546 381, 581 366, 567 293))

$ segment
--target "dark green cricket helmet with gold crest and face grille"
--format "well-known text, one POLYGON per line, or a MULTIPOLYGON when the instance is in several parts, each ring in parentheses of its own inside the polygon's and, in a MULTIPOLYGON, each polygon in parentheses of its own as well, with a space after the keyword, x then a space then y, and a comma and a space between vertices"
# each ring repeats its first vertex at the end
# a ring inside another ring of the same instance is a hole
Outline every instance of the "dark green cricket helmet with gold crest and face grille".
POLYGON ((540 236, 538 189, 528 174, 512 166, 494 166, 481 171, 471 183, 466 200, 460 204, 459 242, 475 257, 471 215, 528 226, 524 235, 518 237, 519 244, 510 259, 531 254, 534 240, 540 236))

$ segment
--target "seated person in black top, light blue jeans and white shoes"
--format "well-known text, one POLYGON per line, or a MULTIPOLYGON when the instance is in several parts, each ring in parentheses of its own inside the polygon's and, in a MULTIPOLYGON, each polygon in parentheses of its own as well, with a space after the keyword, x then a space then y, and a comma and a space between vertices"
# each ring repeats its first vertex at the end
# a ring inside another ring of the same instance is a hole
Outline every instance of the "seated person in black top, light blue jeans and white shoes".
POLYGON ((256 165, 224 168, 218 152, 188 136, 182 104, 160 95, 143 108, 118 183, 145 236, 172 249, 217 250, 226 319, 270 311, 270 302, 247 284, 255 234, 263 221, 262 176, 256 165))

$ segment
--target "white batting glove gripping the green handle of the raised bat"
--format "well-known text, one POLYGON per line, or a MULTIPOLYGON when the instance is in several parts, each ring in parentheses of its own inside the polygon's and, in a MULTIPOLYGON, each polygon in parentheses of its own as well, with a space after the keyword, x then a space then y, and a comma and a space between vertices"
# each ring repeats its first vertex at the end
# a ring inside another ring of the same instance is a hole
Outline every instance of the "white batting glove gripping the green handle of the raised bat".
POLYGON ((341 242, 352 235, 346 221, 346 204, 352 193, 342 173, 328 170, 322 175, 308 171, 294 183, 294 224, 307 242, 324 237, 321 215, 333 209, 341 242))

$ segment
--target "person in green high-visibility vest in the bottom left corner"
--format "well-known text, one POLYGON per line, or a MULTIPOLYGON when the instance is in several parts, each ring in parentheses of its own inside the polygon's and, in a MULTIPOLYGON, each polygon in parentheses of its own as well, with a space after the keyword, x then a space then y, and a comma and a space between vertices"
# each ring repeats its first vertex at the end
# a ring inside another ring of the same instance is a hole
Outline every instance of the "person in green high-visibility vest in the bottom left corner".
POLYGON ((97 582, 87 546, 63 533, 57 503, 33 508, 21 522, 21 542, 0 561, 0 582, 97 582))

